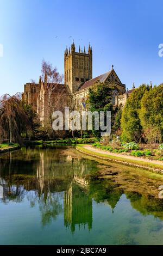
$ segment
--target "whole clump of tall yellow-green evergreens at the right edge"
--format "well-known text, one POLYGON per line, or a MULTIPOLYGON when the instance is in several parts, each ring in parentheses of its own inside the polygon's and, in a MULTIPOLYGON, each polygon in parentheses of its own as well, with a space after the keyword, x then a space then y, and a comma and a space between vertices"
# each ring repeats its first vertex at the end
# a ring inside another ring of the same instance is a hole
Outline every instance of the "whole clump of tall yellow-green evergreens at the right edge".
POLYGON ((163 137, 163 84, 143 84, 132 92, 122 111, 122 140, 153 144, 163 137))

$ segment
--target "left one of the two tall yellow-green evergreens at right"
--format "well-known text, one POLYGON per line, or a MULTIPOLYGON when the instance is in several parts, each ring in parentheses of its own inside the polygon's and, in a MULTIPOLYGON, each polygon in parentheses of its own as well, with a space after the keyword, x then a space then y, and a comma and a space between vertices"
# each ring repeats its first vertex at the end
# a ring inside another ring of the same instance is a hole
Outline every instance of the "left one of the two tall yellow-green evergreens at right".
POLYGON ((141 99, 149 86, 142 84, 139 88, 135 89, 129 95, 126 105, 122 111, 121 128, 122 128, 122 141, 141 141, 142 125, 139 117, 141 109, 141 99))

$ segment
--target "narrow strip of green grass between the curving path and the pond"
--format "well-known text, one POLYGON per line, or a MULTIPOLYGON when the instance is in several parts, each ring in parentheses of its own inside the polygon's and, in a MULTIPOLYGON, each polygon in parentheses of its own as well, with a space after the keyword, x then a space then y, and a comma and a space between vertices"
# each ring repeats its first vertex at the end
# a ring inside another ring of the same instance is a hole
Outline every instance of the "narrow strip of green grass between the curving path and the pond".
POLYGON ((91 150, 85 149, 83 148, 84 144, 80 144, 77 145, 77 149, 79 149, 80 151, 82 151, 83 153, 87 153, 87 154, 91 154, 93 156, 97 156, 97 157, 103 157, 105 159, 110 159, 110 160, 115 160, 115 161, 119 161, 122 163, 130 163, 130 164, 135 164, 135 166, 142 166, 142 167, 146 167, 146 168, 152 168, 152 169, 159 169, 159 170, 163 170, 163 167, 160 166, 159 164, 154 164, 154 163, 147 163, 147 162, 143 162, 143 161, 139 161, 139 160, 131 160, 131 159, 125 159, 123 156, 112 156, 112 155, 105 155, 103 153, 95 153, 91 150))

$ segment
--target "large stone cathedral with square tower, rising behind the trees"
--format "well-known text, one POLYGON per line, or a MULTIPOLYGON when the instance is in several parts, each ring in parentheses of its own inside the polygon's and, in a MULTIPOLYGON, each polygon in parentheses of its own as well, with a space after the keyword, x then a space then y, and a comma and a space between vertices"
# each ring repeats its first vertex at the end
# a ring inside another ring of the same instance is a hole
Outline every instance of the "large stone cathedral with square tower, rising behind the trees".
MULTIPOLYGON (((126 85, 123 84, 117 76, 114 66, 105 74, 92 78, 92 47, 88 50, 76 51, 74 42, 71 48, 67 48, 64 53, 64 84, 57 84, 53 91, 53 100, 60 102, 61 107, 68 106, 68 96, 72 95, 76 102, 76 108, 84 108, 89 88, 93 87, 95 83, 107 82, 110 86, 114 86, 114 93, 112 95, 112 103, 116 107, 123 108, 129 94, 135 89, 126 90, 126 85)), ((47 107, 47 77, 45 74, 44 81, 39 79, 39 83, 26 83, 24 85, 24 93, 22 93, 22 100, 33 106, 35 111, 39 114, 40 121, 44 123, 48 117, 47 107)))

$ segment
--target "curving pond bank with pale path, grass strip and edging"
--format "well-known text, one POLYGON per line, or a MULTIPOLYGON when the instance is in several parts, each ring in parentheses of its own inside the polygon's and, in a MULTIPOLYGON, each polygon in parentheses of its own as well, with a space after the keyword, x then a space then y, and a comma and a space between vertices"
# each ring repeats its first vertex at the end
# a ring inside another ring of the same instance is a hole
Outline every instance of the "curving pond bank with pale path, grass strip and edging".
POLYGON ((91 145, 77 145, 76 149, 87 155, 97 157, 99 159, 115 161, 131 166, 141 167, 163 174, 163 162, 159 160, 142 159, 141 157, 126 156, 118 153, 110 153, 101 149, 93 148, 91 145))

